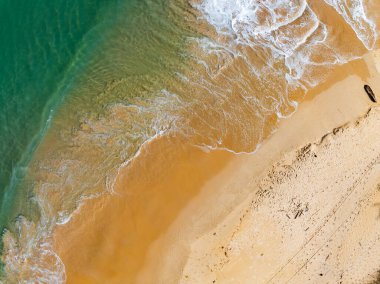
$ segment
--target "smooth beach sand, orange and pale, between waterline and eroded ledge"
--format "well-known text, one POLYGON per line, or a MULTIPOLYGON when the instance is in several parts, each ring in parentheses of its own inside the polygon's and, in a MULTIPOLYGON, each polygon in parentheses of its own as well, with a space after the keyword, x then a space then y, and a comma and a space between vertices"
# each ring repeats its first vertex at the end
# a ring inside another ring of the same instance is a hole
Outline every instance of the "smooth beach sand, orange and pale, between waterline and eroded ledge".
MULTIPOLYGON (((366 55, 367 63, 371 56, 366 55)), ((357 63, 350 64, 338 67, 343 72, 341 76, 354 73, 357 63)), ((255 154, 234 155, 221 150, 205 153, 199 148, 184 149, 177 145, 173 156, 165 152, 164 142, 155 143, 149 153, 142 151, 142 159, 134 162, 135 170, 118 177, 116 194, 88 200, 79 214, 55 231, 54 247, 65 263, 68 283, 86 283, 91 279, 116 283, 132 281, 136 275, 140 283, 176 283, 192 239, 199 238, 233 212, 250 194, 246 185, 255 176, 284 152, 316 140, 368 109, 370 102, 362 90, 362 78, 371 73, 372 86, 375 68, 368 66, 369 72, 359 72, 361 77, 349 75, 337 83, 332 77, 322 84, 321 93, 301 102, 297 112, 282 120, 255 154), (349 98, 344 97, 347 89, 349 98), (321 107, 324 114, 320 113, 321 107), (317 126, 313 126, 312 119, 319 121, 317 126), (303 133, 299 135, 301 130, 303 133), (169 161, 165 155, 169 155, 169 161), (150 166, 147 161, 153 156, 156 162, 150 166), (166 170, 170 180, 164 178, 160 163, 173 164, 173 168, 166 170), (197 173, 199 167, 201 174, 197 173), (147 170, 152 176, 150 180, 139 173, 147 170), (132 181, 126 182, 126 175, 132 181), (159 186, 154 186, 156 183, 159 186), (123 192, 126 188, 127 192, 123 192), (144 193, 136 196, 133 191, 144 193), (162 197, 165 195, 166 198, 162 197), (129 205, 134 198, 136 204, 129 205), (157 206, 165 208, 153 212, 157 206), (146 213, 146 208, 153 209, 146 213), (157 257, 162 258, 160 263, 157 257)), ((373 89, 380 93, 379 87, 373 89)))

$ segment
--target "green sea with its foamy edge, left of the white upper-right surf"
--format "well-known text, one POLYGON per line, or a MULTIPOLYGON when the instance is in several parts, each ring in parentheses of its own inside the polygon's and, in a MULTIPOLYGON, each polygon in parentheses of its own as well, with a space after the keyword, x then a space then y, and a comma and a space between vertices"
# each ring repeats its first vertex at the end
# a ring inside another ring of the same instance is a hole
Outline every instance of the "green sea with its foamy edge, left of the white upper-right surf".
POLYGON ((44 266, 54 226, 173 121, 166 88, 194 34, 180 25, 186 5, 170 3, 0 0, 0 227, 30 261, 5 279, 60 270, 44 266))

